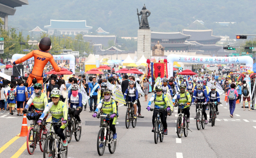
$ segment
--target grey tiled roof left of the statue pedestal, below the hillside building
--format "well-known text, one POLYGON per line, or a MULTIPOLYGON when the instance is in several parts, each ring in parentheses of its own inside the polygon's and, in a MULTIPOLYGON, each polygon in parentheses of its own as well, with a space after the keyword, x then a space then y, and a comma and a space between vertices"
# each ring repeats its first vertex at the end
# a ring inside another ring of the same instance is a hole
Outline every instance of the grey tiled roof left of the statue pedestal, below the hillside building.
POLYGON ((109 41, 113 40, 116 43, 115 35, 83 35, 84 41, 89 41, 94 44, 102 44, 104 47, 109 46, 109 41))

